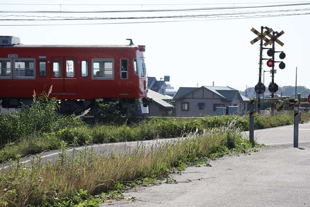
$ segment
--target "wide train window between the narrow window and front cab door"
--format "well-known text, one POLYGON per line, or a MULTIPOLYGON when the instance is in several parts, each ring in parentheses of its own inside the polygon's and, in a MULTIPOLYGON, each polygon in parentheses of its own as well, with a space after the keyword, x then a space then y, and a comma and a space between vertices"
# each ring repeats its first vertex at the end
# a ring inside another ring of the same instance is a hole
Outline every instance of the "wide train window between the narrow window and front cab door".
POLYGON ((92 71, 94 79, 113 79, 113 60, 93 59, 92 71))

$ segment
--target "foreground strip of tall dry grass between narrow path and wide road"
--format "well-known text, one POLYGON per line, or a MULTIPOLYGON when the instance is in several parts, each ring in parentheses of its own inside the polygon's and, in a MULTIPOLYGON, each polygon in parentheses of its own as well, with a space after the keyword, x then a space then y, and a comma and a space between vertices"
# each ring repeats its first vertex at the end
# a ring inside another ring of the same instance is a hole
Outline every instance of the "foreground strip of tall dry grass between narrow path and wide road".
POLYGON ((125 188, 170 181, 167 176, 173 169, 182 170, 188 164, 207 163, 210 158, 251 149, 234 125, 235 121, 218 128, 197 130, 151 146, 138 142, 136 149, 128 149, 122 155, 111 152, 107 156, 95 156, 92 147, 86 145, 71 157, 65 150, 68 143, 62 141, 57 163, 43 165, 38 155, 31 159, 30 166, 17 159, 0 172, 0 191, 4 192, 0 204, 74 206, 88 202, 91 206, 92 201, 95 206, 95 203, 109 202, 121 196, 125 188), (86 191, 87 195, 77 195, 80 191, 86 191))

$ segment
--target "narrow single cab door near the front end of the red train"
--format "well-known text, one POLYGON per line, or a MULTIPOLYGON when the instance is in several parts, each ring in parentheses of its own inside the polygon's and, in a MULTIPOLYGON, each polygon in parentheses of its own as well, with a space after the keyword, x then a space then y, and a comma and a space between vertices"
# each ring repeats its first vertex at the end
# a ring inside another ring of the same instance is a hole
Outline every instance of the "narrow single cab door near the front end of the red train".
POLYGON ((120 82, 119 82, 119 93, 121 96, 129 95, 129 70, 128 70, 128 59, 120 60, 120 82))

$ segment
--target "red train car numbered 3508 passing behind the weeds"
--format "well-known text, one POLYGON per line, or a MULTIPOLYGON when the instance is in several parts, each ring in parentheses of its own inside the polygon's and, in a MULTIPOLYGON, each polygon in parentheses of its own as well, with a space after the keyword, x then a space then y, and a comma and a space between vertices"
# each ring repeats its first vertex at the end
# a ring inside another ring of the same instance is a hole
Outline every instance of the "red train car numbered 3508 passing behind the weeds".
POLYGON ((120 101, 129 108, 137 98, 148 112, 145 46, 22 45, 18 37, 0 36, 2 108, 31 104, 33 91, 61 100, 62 113, 85 110, 95 100, 120 101))

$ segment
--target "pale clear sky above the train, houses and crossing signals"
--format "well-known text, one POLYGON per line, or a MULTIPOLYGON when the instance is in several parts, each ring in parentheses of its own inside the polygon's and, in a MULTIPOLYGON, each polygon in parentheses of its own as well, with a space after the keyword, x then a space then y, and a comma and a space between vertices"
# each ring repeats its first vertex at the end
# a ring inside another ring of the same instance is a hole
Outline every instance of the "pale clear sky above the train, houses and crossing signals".
MULTIPOLYGON (((295 86, 297 80, 297 86, 310 89, 310 1, 48 2, 0 1, 0 35, 17 36, 24 45, 128 45, 130 38, 146 47, 148 76, 170 76, 175 89, 214 85, 245 91, 259 81, 260 42, 250 41, 257 37, 251 29, 261 32, 263 26, 284 32, 279 37, 284 45, 275 43, 275 50, 285 52, 286 67, 275 64, 274 82, 295 86)), ((269 58, 266 52, 263 58, 269 58)), ((261 80, 268 90, 271 68, 266 62, 261 80)))

